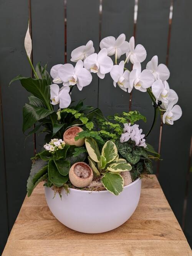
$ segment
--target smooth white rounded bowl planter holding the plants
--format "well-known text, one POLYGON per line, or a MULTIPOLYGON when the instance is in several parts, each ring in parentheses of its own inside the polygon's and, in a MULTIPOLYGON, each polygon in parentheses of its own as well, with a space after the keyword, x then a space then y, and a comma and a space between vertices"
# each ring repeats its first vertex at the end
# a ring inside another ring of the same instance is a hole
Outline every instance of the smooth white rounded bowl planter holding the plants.
POLYGON ((66 195, 45 187, 47 204, 53 215, 65 226, 83 233, 102 233, 126 222, 135 211, 141 194, 141 179, 124 187, 116 196, 104 191, 70 189, 66 195))

